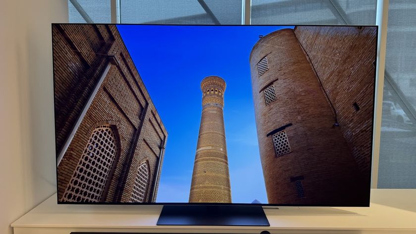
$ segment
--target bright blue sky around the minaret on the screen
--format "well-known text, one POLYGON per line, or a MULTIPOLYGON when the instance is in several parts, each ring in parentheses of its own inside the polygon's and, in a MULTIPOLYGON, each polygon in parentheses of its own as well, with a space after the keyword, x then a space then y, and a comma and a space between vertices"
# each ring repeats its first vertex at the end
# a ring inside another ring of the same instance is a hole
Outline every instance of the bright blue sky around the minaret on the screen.
MULTIPOLYGON (((202 111, 201 80, 222 77, 233 203, 267 203, 249 56, 280 26, 117 25, 168 131, 156 202, 188 202, 202 111)), ((293 28, 293 27, 291 27, 293 28)))

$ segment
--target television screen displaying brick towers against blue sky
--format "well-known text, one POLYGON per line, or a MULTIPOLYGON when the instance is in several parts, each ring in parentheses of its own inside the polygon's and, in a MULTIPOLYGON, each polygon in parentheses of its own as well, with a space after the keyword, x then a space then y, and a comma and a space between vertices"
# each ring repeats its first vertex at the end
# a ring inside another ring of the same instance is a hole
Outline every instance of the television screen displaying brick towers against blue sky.
POLYGON ((52 24, 58 203, 368 206, 376 26, 52 24))

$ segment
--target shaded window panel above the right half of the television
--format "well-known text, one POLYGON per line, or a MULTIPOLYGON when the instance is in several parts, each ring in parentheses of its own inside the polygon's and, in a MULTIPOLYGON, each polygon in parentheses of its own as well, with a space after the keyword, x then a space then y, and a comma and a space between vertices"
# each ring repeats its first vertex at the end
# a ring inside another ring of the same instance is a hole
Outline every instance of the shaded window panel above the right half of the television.
POLYGON ((252 0, 252 24, 375 24, 376 0, 252 0))

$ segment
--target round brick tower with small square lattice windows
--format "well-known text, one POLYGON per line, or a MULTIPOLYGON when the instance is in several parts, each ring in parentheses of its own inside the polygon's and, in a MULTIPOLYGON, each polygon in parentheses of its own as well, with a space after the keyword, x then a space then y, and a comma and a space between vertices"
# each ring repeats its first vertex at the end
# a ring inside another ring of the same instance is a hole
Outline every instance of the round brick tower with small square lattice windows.
POLYGON ((250 64, 268 202, 365 205, 369 189, 294 31, 260 39, 250 64))

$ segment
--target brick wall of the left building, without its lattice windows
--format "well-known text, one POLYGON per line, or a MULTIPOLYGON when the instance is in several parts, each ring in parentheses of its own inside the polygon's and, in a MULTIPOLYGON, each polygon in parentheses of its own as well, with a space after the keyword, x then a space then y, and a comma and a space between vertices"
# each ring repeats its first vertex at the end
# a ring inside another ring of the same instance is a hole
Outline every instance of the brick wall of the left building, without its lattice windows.
MULTIPOLYGON (((80 166, 80 157, 96 127, 107 125, 116 136, 117 150, 100 201, 130 201, 142 163, 147 163, 150 175, 144 202, 155 201, 160 149, 167 132, 117 28, 54 24, 52 34, 57 154, 106 66, 112 64, 57 167, 58 199, 71 201, 63 196, 80 166)), ((94 181, 94 177, 93 173, 84 180, 94 181)), ((82 196, 78 199, 85 201, 82 196)))

